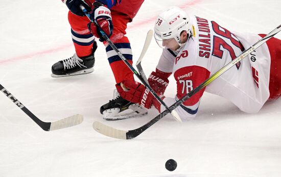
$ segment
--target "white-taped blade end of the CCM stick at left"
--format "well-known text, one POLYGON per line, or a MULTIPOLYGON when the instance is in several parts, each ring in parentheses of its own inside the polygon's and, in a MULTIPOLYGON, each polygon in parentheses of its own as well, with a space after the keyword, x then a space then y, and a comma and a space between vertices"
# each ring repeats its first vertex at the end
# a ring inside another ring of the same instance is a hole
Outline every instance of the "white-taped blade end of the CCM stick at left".
POLYGON ((61 120, 51 122, 50 131, 58 130, 58 129, 64 129, 67 127, 72 127, 74 125, 78 125, 83 122, 83 115, 76 114, 73 116, 69 116, 66 118, 63 118, 61 120))

